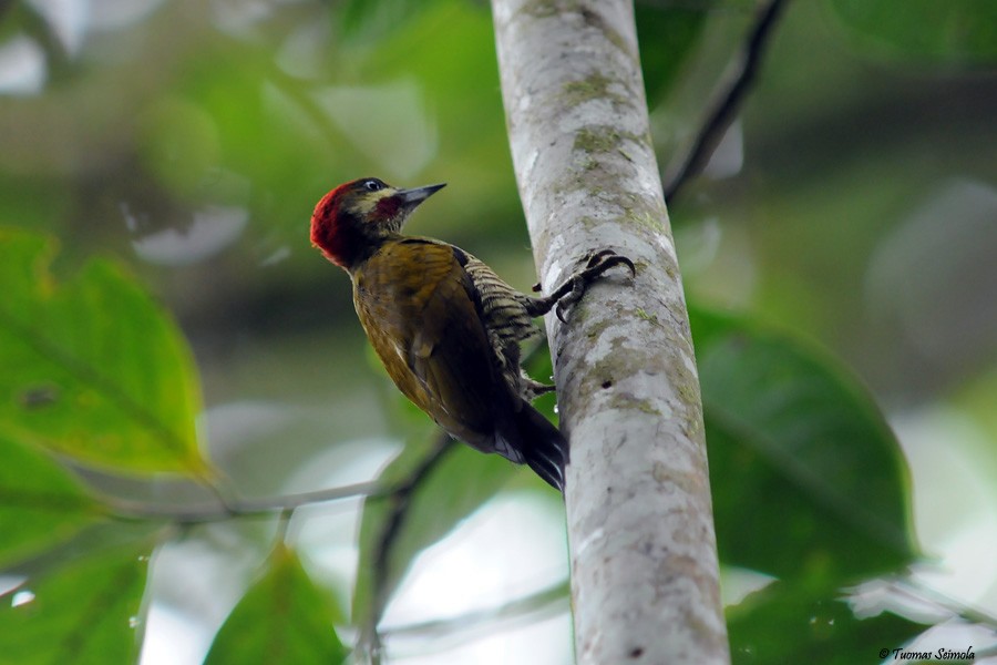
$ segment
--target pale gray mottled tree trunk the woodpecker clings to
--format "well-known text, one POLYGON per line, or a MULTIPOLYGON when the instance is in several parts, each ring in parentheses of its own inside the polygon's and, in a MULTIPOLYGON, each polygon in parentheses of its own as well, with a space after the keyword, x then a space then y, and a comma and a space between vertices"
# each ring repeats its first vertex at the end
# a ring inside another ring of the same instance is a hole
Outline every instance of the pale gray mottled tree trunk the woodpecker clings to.
POLYGON ((727 663, 702 408, 628 0, 492 0, 520 194, 546 290, 567 469, 577 659, 727 663))

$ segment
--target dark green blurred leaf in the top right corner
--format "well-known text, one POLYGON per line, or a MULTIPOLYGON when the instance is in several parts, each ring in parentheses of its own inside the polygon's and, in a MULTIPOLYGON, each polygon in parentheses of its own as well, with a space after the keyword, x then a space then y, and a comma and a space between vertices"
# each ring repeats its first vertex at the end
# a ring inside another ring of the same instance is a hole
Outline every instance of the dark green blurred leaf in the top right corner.
POLYGON ((997 62, 994 0, 830 0, 859 43, 880 53, 946 65, 997 62))

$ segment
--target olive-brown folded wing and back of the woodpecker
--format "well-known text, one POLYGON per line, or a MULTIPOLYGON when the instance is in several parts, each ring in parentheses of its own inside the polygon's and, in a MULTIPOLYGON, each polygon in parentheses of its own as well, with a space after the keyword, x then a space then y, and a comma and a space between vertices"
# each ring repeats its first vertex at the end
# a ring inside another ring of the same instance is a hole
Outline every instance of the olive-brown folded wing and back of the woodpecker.
POLYGON ((522 462, 495 437, 513 408, 463 263, 466 256, 445 243, 386 243, 356 277, 357 313, 409 399, 454 437, 522 462))

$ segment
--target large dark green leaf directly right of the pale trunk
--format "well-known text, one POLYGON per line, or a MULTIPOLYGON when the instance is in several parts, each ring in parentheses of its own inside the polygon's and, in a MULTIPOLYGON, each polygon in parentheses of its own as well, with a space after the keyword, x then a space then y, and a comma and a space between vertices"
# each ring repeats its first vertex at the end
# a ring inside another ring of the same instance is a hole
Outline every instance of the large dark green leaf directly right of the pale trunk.
POLYGON ((720 557, 833 589, 915 555, 903 456, 843 368, 690 308, 720 557))

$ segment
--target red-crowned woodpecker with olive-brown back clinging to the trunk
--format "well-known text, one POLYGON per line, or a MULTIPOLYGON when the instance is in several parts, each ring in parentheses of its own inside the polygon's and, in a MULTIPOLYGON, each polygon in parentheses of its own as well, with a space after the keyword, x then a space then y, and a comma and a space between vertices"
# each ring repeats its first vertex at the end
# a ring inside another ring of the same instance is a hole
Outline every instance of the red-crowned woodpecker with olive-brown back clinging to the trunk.
POLYGON ((576 301, 616 265, 614 252, 546 297, 521 294, 484 263, 441 241, 401 234, 419 204, 444 185, 399 190, 376 177, 340 185, 311 216, 311 244, 343 268, 353 305, 388 375, 454 439, 528 464, 564 491, 568 446, 531 406, 553 390, 520 367, 520 344, 539 332, 533 319, 576 301))

